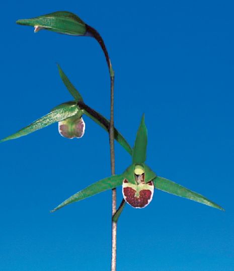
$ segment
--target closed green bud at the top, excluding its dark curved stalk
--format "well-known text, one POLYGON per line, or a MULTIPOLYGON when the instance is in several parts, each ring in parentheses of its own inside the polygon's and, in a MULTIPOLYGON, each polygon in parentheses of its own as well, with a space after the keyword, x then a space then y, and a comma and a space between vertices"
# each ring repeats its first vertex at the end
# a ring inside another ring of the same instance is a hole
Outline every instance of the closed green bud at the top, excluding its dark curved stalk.
POLYGON ((86 24, 75 14, 66 11, 54 12, 32 19, 18 20, 16 23, 19 25, 38 27, 38 29, 35 29, 35 32, 40 29, 46 29, 75 36, 86 34, 86 24))

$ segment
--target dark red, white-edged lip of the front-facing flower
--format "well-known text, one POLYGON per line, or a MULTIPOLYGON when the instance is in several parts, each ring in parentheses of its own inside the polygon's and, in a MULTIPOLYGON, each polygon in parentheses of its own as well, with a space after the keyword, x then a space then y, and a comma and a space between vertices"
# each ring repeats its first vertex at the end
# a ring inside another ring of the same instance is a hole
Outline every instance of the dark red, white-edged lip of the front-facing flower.
POLYGON ((123 181, 122 192, 125 201, 133 208, 144 208, 152 200, 154 191, 153 182, 132 184, 126 179, 123 181))

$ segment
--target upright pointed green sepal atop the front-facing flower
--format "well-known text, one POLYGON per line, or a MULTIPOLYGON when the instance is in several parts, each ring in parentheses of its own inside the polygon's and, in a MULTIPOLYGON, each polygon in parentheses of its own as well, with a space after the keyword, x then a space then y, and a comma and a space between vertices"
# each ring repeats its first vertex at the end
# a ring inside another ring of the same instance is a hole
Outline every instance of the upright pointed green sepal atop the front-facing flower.
POLYGON ((133 147, 132 163, 142 164, 146 160, 147 147, 147 128, 144 123, 144 114, 142 115, 140 126, 136 134, 136 140, 133 147))

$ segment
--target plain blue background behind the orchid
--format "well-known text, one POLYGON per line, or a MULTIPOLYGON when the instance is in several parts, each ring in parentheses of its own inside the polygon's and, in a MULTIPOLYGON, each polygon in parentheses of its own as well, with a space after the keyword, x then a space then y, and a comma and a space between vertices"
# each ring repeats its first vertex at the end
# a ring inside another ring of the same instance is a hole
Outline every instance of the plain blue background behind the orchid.
MULTIPOLYGON (((141 114, 147 164, 226 212, 155 190, 118 224, 118 270, 234 269, 233 2, 14 1, 1 4, 1 138, 71 100, 58 62, 91 107, 109 117, 109 76, 92 38, 15 24, 54 11, 103 36, 116 74, 115 125, 133 145, 141 114)), ((110 175, 108 134, 87 117, 80 140, 51 125, 1 148, 0 269, 108 270, 111 191, 49 210, 110 175)), ((116 173, 130 164, 115 144, 116 173)), ((121 201, 118 188, 118 202, 121 201)))

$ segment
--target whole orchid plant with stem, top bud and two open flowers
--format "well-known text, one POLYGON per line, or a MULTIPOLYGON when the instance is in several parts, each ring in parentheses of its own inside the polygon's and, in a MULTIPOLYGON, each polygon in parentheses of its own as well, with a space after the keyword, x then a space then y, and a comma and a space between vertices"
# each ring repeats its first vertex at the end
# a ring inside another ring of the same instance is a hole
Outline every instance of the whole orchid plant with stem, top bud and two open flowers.
POLYGON ((18 20, 17 24, 34 27, 34 32, 45 29, 60 34, 73 36, 87 36, 95 38, 101 45, 107 61, 111 80, 111 117, 110 121, 89 107, 83 100, 81 94, 75 89, 72 83, 58 65, 59 75, 73 97, 72 101, 62 103, 54 107, 48 114, 32 122, 16 133, 0 140, 0 143, 17 139, 23 135, 32 133, 50 124, 58 122, 59 133, 68 139, 81 138, 85 133, 85 122, 83 115, 87 115, 98 125, 109 132, 111 150, 111 173, 112 176, 91 184, 85 189, 75 193, 60 205, 54 208, 54 212, 72 202, 85 199, 97 193, 112 189, 112 261, 111 270, 116 270, 116 228, 117 220, 123 211, 125 202, 133 208, 145 208, 152 200, 154 188, 162 191, 182 196, 201 204, 223 210, 222 207, 201 194, 193 192, 166 178, 159 177, 146 164, 147 129, 142 116, 134 143, 131 148, 123 135, 114 127, 114 71, 109 58, 105 43, 100 34, 91 26, 82 21, 78 16, 70 12, 55 12, 32 19, 18 20), (131 155, 132 164, 119 175, 115 175, 114 166, 114 139, 131 155), (123 200, 118 210, 116 210, 116 190, 122 185, 123 200))

